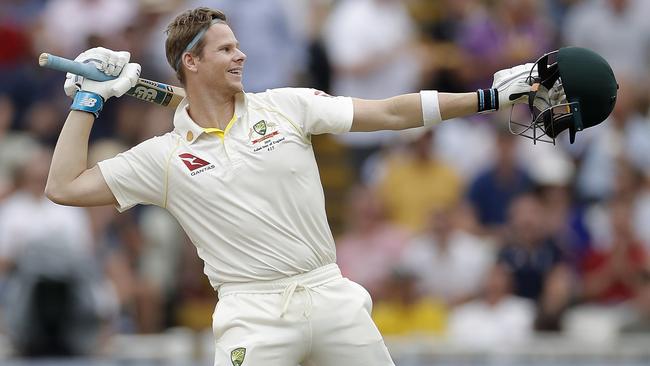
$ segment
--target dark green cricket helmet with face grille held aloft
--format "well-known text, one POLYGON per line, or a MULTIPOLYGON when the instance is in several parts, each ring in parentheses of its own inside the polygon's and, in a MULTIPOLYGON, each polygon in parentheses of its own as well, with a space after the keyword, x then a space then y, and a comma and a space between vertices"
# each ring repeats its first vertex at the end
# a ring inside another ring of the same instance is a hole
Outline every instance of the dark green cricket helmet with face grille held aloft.
MULTIPOLYGON (((529 98, 533 114, 530 127, 533 132, 541 128, 542 135, 552 138, 552 142, 569 129, 573 143, 577 131, 603 122, 614 109, 618 89, 614 72, 604 58, 591 50, 560 48, 542 56, 533 69, 539 76, 530 78, 535 90, 529 98), (544 103, 536 101, 540 97, 546 98, 544 103)), ((544 141, 540 137, 533 134, 533 140, 544 141)))

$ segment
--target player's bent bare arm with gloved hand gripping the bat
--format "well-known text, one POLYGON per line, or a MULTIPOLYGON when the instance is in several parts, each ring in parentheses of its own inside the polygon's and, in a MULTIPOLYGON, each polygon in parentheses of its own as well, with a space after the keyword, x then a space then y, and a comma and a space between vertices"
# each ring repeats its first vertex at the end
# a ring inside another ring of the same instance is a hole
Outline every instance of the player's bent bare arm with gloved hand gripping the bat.
POLYGON ((67 76, 64 89, 74 101, 54 148, 47 177, 45 194, 53 202, 69 206, 116 203, 99 168, 88 168, 88 138, 104 101, 121 96, 137 81, 140 65, 129 64, 129 58, 128 52, 103 48, 88 50, 77 57, 76 61, 80 62, 96 61, 97 67, 107 75, 119 76, 104 82, 67 76))

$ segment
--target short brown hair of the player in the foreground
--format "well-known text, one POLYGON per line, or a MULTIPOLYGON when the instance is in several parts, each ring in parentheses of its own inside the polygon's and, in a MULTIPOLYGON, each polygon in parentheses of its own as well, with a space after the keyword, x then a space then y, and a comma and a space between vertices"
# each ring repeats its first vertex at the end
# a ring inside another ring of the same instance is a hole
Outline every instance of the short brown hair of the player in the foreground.
MULTIPOLYGON (((220 10, 198 7, 179 14, 167 26, 165 31, 167 33, 167 40, 165 41, 167 62, 176 71, 176 77, 183 85, 185 85, 185 74, 183 73, 181 58, 185 53, 185 48, 201 30, 210 27, 215 19, 226 23, 226 14, 220 10)), ((199 39, 196 46, 188 51, 193 55, 200 55, 204 46, 205 41, 199 39)))

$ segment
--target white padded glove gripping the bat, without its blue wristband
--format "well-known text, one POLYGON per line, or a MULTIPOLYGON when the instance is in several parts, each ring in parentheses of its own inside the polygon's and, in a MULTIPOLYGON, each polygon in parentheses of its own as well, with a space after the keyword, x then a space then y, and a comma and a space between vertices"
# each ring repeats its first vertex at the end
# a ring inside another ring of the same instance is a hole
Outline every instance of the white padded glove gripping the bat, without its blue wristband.
POLYGON ((110 97, 120 97, 131 89, 140 77, 140 65, 129 63, 131 54, 127 51, 112 51, 103 47, 91 48, 82 52, 75 61, 92 62, 97 69, 108 76, 117 76, 108 81, 94 81, 79 75, 66 74, 63 89, 71 98, 79 90, 97 93, 106 101, 110 97))

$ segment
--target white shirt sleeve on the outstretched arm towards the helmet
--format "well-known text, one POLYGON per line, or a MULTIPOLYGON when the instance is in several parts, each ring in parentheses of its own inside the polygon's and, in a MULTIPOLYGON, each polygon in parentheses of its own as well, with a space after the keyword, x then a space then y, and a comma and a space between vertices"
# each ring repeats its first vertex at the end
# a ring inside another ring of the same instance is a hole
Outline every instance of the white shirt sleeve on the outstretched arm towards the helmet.
POLYGON ((269 91, 271 100, 305 136, 345 133, 352 127, 352 98, 334 97, 308 88, 282 88, 269 91))

